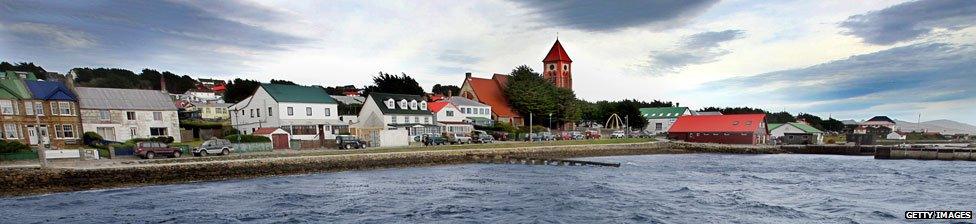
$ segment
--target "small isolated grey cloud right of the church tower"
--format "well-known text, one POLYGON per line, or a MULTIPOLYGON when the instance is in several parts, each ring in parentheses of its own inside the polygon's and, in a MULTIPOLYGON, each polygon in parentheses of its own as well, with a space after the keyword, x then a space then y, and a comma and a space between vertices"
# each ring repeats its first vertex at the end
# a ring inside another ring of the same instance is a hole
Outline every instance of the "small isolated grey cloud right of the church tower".
POLYGON ((660 76, 681 71, 682 68, 717 60, 732 51, 719 45, 745 36, 742 30, 702 32, 687 36, 673 49, 651 52, 646 67, 652 75, 660 76))

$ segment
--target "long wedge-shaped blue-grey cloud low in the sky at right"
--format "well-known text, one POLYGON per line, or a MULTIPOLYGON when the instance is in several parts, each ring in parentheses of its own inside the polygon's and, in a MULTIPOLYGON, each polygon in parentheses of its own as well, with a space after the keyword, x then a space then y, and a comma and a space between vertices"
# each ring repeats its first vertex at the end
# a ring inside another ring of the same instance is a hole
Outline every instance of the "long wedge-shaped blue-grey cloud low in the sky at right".
POLYGON ((976 100, 974 71, 976 46, 919 43, 806 68, 710 82, 701 89, 809 112, 864 111, 893 104, 924 107, 976 100))

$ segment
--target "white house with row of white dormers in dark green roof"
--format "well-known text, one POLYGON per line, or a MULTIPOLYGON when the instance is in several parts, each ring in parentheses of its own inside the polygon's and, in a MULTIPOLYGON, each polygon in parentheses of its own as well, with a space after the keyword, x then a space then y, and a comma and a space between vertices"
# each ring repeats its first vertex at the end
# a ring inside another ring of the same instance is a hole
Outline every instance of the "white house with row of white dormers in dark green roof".
POLYGON ((370 93, 359 111, 356 128, 407 130, 410 136, 440 133, 427 101, 417 95, 370 93))

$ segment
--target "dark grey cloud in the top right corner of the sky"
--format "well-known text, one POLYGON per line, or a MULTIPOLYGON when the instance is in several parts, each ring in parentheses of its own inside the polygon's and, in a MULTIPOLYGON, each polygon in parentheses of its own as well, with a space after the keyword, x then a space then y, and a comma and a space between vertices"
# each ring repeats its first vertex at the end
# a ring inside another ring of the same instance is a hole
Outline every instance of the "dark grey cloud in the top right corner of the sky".
POLYGON ((848 17, 840 26, 845 34, 866 43, 889 45, 913 40, 936 29, 958 30, 976 24, 972 0, 913 1, 879 11, 848 17))

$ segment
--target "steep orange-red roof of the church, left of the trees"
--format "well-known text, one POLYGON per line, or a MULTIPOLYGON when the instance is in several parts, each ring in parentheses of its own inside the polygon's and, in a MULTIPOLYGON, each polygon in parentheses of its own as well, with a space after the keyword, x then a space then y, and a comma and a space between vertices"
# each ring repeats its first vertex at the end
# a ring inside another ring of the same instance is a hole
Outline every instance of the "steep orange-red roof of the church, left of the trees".
POLYGON ((478 101, 491 106, 491 112, 500 117, 518 117, 508 105, 504 88, 508 85, 508 75, 495 74, 491 79, 468 78, 467 82, 478 96, 478 101))

